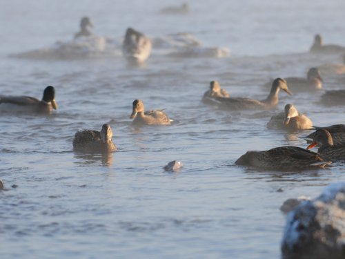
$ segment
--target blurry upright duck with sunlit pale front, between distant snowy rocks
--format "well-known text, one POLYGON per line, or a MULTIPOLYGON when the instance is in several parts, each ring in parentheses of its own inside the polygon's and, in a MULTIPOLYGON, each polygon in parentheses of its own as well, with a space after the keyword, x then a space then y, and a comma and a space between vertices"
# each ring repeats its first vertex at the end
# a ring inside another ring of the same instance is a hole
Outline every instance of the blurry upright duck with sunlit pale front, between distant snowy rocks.
POLYGON ((122 52, 128 61, 134 61, 135 63, 144 62, 150 56, 151 46, 151 40, 141 32, 133 28, 126 30, 122 52))

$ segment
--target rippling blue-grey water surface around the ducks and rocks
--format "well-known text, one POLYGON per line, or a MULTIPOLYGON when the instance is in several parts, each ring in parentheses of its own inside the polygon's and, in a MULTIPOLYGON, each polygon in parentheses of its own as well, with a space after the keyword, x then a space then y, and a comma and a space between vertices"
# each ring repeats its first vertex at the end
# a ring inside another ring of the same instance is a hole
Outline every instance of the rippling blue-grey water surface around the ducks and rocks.
MULTIPOLYGON (((3 258, 279 258, 287 198, 315 197, 345 180, 344 164, 304 172, 234 166, 248 150, 305 147, 301 136, 268 131, 270 116, 293 102, 315 125, 344 124, 344 106, 320 106, 322 91, 281 93, 279 110, 227 112, 201 104, 209 81, 232 96, 264 98, 271 78, 305 77, 340 63, 306 53, 315 33, 345 45, 345 2, 190 1, 188 15, 161 15, 175 1, 19 1, 1 4, 1 94, 41 98, 55 86, 48 117, 0 115, 0 241, 3 258), (150 37, 193 33, 231 57, 173 58, 153 52, 145 66, 122 57, 16 59, 9 55, 68 41, 80 17, 98 35, 121 39, 128 26, 150 37), (166 108, 171 126, 132 128, 132 101, 166 108), (110 123, 118 152, 72 152, 80 128, 110 123), (163 166, 181 160, 179 173, 163 166), (278 192, 278 189, 284 191, 278 192)), ((324 76, 325 89, 344 88, 324 76)))

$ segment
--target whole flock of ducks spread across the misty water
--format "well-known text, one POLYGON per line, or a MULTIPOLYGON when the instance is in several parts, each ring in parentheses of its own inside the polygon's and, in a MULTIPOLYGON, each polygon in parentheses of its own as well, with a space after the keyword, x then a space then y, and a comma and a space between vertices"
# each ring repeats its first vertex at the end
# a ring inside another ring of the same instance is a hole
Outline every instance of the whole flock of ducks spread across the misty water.
MULTIPOLYGON (((91 37, 92 32, 88 30, 92 23, 88 17, 83 17, 80 23, 80 31, 75 34, 79 37, 91 37)), ((148 59, 152 48, 151 41, 143 33, 132 28, 126 30, 122 44, 124 57, 128 61, 141 63, 148 59)), ((324 45, 320 35, 315 36, 311 52, 317 53, 345 53, 345 47, 335 45, 324 45)), ((345 56, 344 56, 345 59, 345 56)), ((326 69, 321 68, 320 69, 326 69)), ((327 69, 330 69, 329 67, 327 69)), ((345 66, 337 66, 335 73, 345 73, 345 66), (343 68, 343 70, 342 70, 343 68)), ((270 92, 266 99, 257 100, 248 97, 230 97, 228 92, 221 88, 218 81, 210 82, 210 89, 204 93, 202 102, 217 106, 227 111, 242 110, 272 110, 279 102, 279 92, 283 90, 292 95, 294 91, 310 91, 322 88, 322 77, 318 68, 311 68, 306 78, 288 77, 277 78, 270 85, 270 92)), ((267 84, 266 84, 267 86, 267 84)), ((326 91, 322 99, 331 99, 333 96, 344 100, 345 90, 326 91)), ((326 102, 325 101, 325 102, 326 102)), ((55 102, 55 88, 48 86, 43 91, 41 100, 27 96, 4 96, 0 95, 0 111, 25 111, 26 113, 51 113, 57 109, 55 102)), ((136 126, 141 125, 169 125, 172 119, 163 110, 145 111, 144 103, 135 99, 132 103, 132 114, 130 118, 136 126)), ((280 146, 268 151, 248 151, 235 162, 237 165, 253 166, 259 169, 311 169, 324 167, 335 160, 345 160, 345 125, 337 124, 326 127, 315 127, 311 119, 299 113, 293 104, 286 104, 283 113, 273 116, 267 124, 268 128, 279 128, 286 131, 299 131, 315 129, 314 133, 307 136, 311 143, 307 148, 297 146, 280 146), (316 152, 310 151, 314 146, 319 146, 316 152)), ((114 152, 116 145, 112 142, 112 129, 109 124, 103 124, 101 131, 84 130, 75 133, 72 142, 75 151, 85 152, 114 152)))

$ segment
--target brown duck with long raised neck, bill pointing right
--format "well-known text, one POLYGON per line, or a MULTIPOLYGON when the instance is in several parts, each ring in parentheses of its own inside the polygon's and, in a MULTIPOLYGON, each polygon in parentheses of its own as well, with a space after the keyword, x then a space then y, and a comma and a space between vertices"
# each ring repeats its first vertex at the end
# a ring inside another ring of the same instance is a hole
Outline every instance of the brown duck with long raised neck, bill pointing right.
POLYGON ((284 90, 288 95, 292 95, 288 89, 288 84, 285 79, 276 78, 272 83, 272 88, 268 97, 262 101, 257 99, 249 99, 242 97, 215 97, 219 108, 226 110, 272 110, 279 102, 278 93, 284 90))

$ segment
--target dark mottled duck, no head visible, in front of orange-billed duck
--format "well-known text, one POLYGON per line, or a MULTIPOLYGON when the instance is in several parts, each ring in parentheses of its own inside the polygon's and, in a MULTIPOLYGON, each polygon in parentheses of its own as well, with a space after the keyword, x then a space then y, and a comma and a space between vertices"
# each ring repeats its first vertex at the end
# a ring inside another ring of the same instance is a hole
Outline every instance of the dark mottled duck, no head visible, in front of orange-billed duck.
POLYGON ((248 151, 235 164, 264 170, 289 171, 324 168, 331 161, 325 161, 318 153, 298 146, 279 146, 268 151, 248 151))

